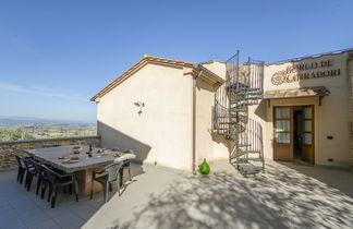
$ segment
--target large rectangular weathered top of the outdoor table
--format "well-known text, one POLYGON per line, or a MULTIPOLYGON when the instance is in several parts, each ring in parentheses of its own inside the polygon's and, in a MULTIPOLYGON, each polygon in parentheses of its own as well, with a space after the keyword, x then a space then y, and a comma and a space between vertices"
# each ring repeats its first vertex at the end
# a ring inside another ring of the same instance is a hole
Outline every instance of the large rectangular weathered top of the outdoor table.
MULTIPOLYGON (((93 152, 97 152, 101 148, 94 148, 93 152)), ((86 154, 88 152, 88 146, 85 145, 70 145, 70 146, 60 146, 60 147, 49 147, 49 148, 36 148, 36 149, 27 149, 25 153, 33 156, 35 159, 42 161, 44 164, 51 165, 52 167, 60 169, 64 172, 75 172, 80 170, 85 170, 89 168, 97 168, 105 165, 109 165, 112 162, 120 162, 126 159, 136 158, 134 154, 124 154, 120 157, 115 157, 117 152, 111 152, 105 149, 106 154, 94 153, 93 157, 88 157, 86 154), (81 154, 73 154, 73 147, 81 146, 81 154), (59 159, 64 155, 73 155, 74 157, 78 157, 80 160, 76 164, 63 164, 64 160, 68 159, 59 159)))

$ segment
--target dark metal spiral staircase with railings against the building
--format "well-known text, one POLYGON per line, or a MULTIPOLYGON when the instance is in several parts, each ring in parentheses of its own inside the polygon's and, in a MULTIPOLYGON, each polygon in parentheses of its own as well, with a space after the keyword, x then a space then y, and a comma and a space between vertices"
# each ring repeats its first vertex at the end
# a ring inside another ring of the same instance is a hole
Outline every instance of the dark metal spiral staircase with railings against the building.
POLYGON ((264 62, 239 64, 239 51, 226 62, 226 83, 215 94, 212 133, 231 140, 229 160, 244 176, 265 171, 263 128, 248 117, 248 107, 264 95, 264 62))

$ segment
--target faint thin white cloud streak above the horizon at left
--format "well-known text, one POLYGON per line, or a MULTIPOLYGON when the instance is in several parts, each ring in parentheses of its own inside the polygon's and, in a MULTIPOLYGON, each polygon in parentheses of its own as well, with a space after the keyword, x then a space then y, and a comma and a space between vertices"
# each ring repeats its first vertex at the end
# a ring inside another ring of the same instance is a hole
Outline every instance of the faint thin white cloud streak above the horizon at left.
POLYGON ((7 92, 12 92, 12 93, 26 94, 26 95, 57 97, 57 98, 75 99, 75 100, 84 100, 84 101, 88 100, 84 96, 58 93, 58 92, 54 92, 53 89, 50 89, 48 87, 40 87, 40 86, 26 86, 25 87, 23 85, 0 83, 0 89, 7 91, 7 92))

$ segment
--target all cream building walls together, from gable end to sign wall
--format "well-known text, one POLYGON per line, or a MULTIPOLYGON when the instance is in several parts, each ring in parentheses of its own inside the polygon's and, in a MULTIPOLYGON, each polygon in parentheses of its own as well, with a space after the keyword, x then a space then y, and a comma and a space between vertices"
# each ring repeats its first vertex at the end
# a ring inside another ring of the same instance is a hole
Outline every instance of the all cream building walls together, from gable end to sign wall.
MULTIPOLYGON (((350 166, 351 112, 350 77, 346 53, 302 60, 301 63, 332 60, 339 76, 302 80, 273 85, 275 72, 292 63, 265 65, 265 92, 312 86, 325 86, 331 95, 319 106, 317 97, 263 100, 248 108, 249 117, 260 122, 264 133, 266 158, 272 158, 273 106, 315 105, 315 164, 350 166), (327 136, 332 135, 333 140, 327 136), (333 158, 329 162, 328 158, 333 158)), ((226 65, 221 62, 204 67, 226 79, 226 65)), ((97 108, 98 133, 106 147, 134 149, 138 159, 157 165, 190 170, 192 166, 192 86, 190 69, 147 64, 121 85, 100 98, 97 108), (134 103, 145 107, 141 116, 134 103)), ((314 70, 313 70, 314 71, 314 70)), ((316 70, 315 70, 316 71, 316 70)), ((196 88, 196 164, 208 160, 229 159, 231 141, 211 134, 211 113, 216 88, 197 80, 196 88)))

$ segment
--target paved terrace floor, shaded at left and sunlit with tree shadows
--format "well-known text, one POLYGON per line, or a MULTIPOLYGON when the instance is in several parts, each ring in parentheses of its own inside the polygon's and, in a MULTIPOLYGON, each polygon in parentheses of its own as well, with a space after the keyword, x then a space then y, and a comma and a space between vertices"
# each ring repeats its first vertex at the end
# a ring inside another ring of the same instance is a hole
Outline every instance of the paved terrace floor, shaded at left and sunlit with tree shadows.
POLYGON ((59 193, 56 208, 0 172, 0 228, 352 228, 353 173, 284 162, 243 178, 228 164, 208 177, 134 166, 120 197, 59 193))

